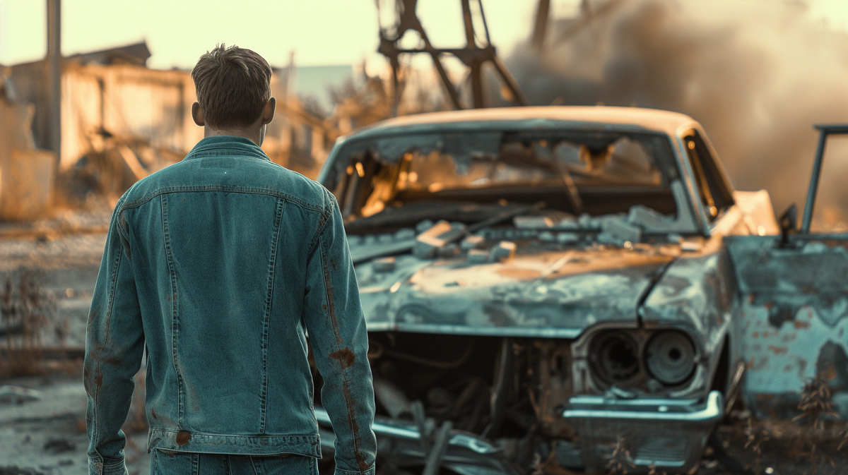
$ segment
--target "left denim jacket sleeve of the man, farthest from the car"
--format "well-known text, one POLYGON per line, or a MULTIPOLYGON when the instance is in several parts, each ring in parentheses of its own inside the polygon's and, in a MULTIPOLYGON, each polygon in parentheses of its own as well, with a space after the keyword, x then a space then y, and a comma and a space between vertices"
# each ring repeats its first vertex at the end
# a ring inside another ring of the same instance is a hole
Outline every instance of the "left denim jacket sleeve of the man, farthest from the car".
POLYGON ((88 395, 88 469, 92 475, 124 475, 126 437, 120 429, 130 410, 133 376, 144 349, 141 311, 133 279, 126 226, 115 207, 100 262, 86 329, 83 383, 88 395))

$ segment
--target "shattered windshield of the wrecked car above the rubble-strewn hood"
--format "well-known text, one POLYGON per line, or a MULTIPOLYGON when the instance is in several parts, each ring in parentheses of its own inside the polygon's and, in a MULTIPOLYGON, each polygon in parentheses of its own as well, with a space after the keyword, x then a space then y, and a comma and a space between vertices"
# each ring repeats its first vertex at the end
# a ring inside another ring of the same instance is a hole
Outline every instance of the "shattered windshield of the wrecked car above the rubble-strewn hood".
POLYGON ((340 153, 345 168, 328 185, 348 220, 461 221, 439 214, 457 204, 479 215, 487 205, 537 202, 574 216, 634 206, 672 219, 678 212, 678 171, 667 135, 656 133, 429 132, 349 143, 340 153))

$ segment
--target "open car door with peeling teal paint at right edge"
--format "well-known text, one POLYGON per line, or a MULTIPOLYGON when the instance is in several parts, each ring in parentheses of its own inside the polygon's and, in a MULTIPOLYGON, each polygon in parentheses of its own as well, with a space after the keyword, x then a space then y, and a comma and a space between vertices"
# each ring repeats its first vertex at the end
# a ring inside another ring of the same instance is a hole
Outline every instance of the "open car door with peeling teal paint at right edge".
POLYGON ((743 396, 761 417, 795 414, 813 378, 828 384, 834 409, 848 417, 848 235, 809 231, 824 143, 848 126, 817 129, 802 229, 793 233, 787 216, 784 235, 727 239, 742 299, 735 332, 747 367, 743 396))

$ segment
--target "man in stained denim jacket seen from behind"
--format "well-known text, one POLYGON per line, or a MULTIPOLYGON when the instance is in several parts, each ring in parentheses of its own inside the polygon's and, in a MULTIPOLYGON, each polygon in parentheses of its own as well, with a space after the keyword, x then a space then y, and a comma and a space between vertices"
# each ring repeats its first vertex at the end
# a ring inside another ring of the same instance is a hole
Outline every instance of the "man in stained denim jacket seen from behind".
POLYGON ((147 353, 153 474, 317 473, 308 331, 336 473, 374 473, 368 337, 341 214, 259 148, 271 67, 220 45, 192 70, 198 142, 115 207, 86 336, 92 474, 124 474, 147 353))

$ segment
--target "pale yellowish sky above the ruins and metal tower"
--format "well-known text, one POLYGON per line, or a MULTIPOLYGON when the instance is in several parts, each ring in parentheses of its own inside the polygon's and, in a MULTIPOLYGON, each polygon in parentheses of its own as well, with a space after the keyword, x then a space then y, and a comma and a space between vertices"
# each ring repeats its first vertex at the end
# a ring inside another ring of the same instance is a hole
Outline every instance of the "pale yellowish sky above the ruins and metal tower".
MULTIPOLYGON (((529 34, 537 0, 483 3, 493 42, 506 56, 529 34)), ((554 0, 552 14, 572 14, 578 3, 554 0)), ((813 19, 836 30, 848 27, 848 1, 806 3, 813 19)), ((0 0, 0 64, 44 56, 46 4, 46 0, 0 0)), ((420 0, 418 11, 436 46, 462 45, 459 0, 420 0)), ((382 62, 376 52, 373 0, 63 0, 62 20, 64 54, 144 39, 153 53, 148 65, 159 69, 190 69, 217 42, 254 49, 275 66, 286 65, 292 51, 301 66, 382 62)))

